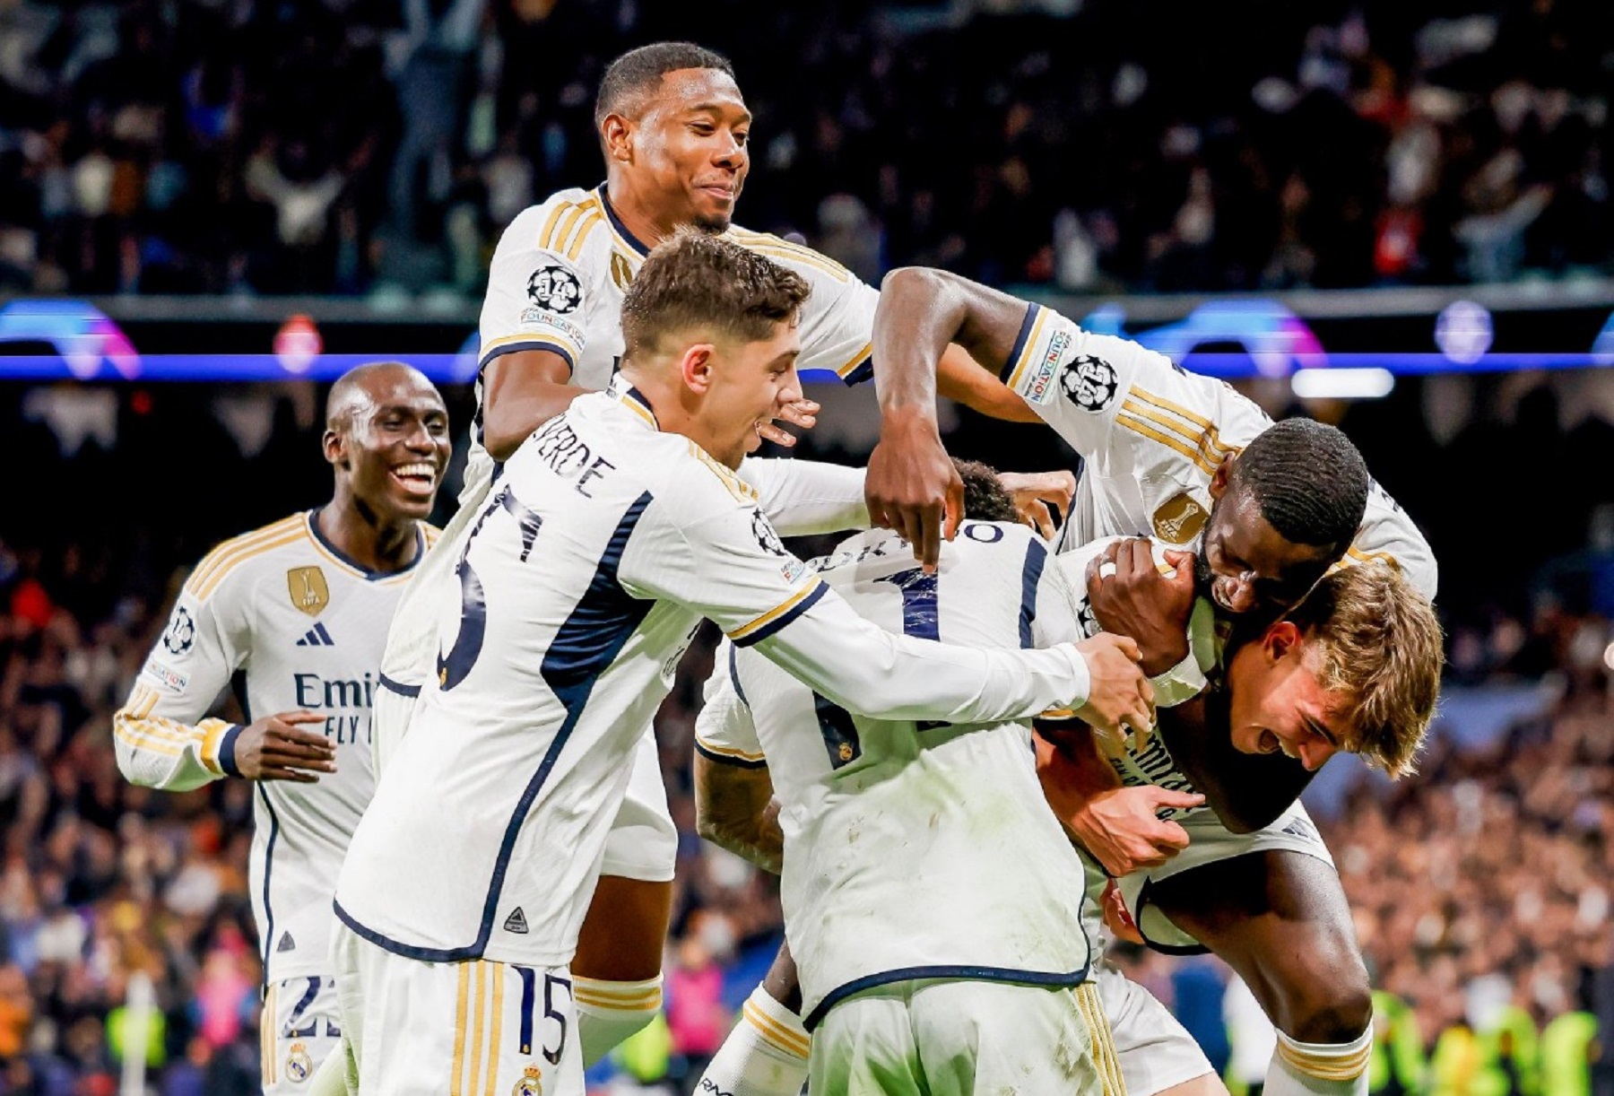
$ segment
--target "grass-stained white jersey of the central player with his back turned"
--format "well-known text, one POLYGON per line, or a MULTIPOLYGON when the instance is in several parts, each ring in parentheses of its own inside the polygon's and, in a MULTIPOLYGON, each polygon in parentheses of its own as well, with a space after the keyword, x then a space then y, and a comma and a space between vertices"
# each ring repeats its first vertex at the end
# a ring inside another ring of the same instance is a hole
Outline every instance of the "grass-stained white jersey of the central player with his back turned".
MULTIPOLYGON (((1025 526, 964 521, 936 575, 883 529, 812 567, 888 631, 1033 647, 1077 638, 1065 579, 1049 563, 1025 526)), ((717 668, 696 749, 768 765, 809 1028, 847 994, 889 981, 1083 981, 1083 865, 1043 799, 1028 725, 852 715, 733 644, 717 668)), ((947 688, 922 673, 920 686, 947 688)))

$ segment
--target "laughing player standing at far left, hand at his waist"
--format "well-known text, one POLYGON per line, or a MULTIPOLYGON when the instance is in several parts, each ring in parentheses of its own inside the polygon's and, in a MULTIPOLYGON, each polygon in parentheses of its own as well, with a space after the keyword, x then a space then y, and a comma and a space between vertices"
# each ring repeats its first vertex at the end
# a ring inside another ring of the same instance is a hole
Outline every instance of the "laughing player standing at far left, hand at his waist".
POLYGON ((331 897, 374 788, 386 621, 436 536, 424 518, 449 462, 442 397, 407 365, 349 371, 326 400, 324 457, 331 500, 213 549, 113 717, 118 767, 137 784, 257 781, 252 910, 271 1094, 303 1091, 341 1036, 331 897), (237 673, 247 722, 203 718, 237 673))

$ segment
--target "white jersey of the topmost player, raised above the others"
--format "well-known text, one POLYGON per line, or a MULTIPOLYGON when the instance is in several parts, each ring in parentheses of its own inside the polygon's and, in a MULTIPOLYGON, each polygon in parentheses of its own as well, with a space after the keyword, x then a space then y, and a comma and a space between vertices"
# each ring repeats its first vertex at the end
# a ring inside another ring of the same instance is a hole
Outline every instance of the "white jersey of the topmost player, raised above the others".
MULTIPOLYGON (((880 291, 810 247, 730 226, 725 237, 786 266, 812 286, 802 307, 799 370, 831 370, 847 384, 870 374, 880 291)), ((604 389, 621 362, 621 297, 649 247, 612 208, 605 186, 567 189, 521 210, 494 249, 481 315, 479 368, 515 350, 554 350, 571 381, 604 389)), ((465 483, 486 479, 481 373, 465 483)))

